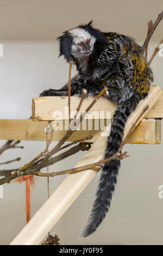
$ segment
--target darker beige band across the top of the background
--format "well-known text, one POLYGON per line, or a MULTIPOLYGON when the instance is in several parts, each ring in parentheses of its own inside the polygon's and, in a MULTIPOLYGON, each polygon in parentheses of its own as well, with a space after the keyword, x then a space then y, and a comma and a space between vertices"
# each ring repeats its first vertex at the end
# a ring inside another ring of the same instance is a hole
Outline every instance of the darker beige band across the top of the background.
MULTIPOLYGON (((95 21, 103 31, 144 40, 163 0, 0 0, 0 40, 55 40, 62 31, 95 21)), ((152 40, 163 37, 163 21, 152 40)))

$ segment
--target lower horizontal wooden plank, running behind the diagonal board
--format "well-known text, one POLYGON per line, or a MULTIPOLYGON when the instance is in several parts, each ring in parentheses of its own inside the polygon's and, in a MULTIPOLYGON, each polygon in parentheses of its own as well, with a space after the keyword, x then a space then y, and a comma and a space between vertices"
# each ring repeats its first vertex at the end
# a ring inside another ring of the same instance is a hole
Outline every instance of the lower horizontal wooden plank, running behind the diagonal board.
MULTIPOLYGON (((55 121, 54 121, 55 122, 55 121)), ((0 120, 0 139, 17 139, 20 141, 45 141, 44 128, 47 121, 33 122, 27 120, 0 120)), ((95 128, 95 127, 93 127, 95 128)), ((53 141, 59 141, 66 131, 55 131, 53 141)), ((82 137, 92 135, 93 138, 87 142, 95 142, 99 136, 98 131, 77 131, 68 139, 69 142, 82 137)), ((127 143, 131 144, 160 144, 161 143, 161 120, 142 119, 135 130, 129 135, 127 143)))

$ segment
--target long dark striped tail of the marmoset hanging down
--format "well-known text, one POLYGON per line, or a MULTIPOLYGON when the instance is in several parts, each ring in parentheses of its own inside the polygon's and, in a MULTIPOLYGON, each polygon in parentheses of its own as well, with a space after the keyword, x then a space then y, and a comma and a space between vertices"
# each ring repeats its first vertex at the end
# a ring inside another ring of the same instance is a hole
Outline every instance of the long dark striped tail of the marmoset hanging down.
MULTIPOLYGON (((117 107, 111 123, 111 132, 106 142, 105 159, 114 155, 120 148, 124 126, 130 113, 134 111, 139 101, 140 97, 133 96, 117 107)), ((108 212, 112 194, 115 191, 119 168, 120 160, 104 164, 96 192, 96 199, 81 237, 86 237, 95 232, 108 212)))

